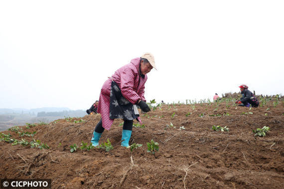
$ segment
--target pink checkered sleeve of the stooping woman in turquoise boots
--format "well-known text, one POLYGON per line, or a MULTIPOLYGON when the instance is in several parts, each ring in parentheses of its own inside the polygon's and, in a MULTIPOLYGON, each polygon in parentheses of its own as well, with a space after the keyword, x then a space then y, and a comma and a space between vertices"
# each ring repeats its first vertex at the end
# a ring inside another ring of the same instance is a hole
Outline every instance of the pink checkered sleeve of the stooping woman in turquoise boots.
POLYGON ((126 68, 121 73, 121 93, 131 103, 135 104, 141 97, 133 90, 135 73, 131 68, 126 68))

